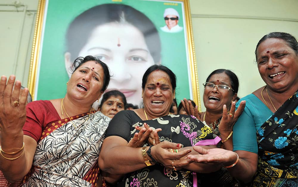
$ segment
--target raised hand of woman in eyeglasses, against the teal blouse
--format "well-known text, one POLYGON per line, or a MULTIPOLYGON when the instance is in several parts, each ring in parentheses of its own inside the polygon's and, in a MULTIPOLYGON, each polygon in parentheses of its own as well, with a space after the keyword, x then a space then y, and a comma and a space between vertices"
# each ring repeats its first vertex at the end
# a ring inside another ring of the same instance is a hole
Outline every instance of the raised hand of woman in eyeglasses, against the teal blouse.
POLYGON ((219 124, 219 132, 222 134, 224 132, 230 133, 233 130, 233 126, 238 120, 239 116, 242 114, 246 101, 241 101, 238 109, 235 111, 236 102, 233 101, 231 105, 231 109, 229 113, 227 112, 226 105, 223 106, 223 117, 221 118, 221 122, 219 124))

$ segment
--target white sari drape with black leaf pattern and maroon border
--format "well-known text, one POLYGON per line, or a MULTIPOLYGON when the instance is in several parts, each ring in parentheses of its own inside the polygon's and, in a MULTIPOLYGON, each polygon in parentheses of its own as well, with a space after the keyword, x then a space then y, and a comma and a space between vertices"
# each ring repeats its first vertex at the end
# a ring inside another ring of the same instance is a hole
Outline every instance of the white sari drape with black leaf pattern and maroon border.
POLYGON ((91 112, 47 124, 23 186, 96 186, 100 147, 110 119, 91 112))

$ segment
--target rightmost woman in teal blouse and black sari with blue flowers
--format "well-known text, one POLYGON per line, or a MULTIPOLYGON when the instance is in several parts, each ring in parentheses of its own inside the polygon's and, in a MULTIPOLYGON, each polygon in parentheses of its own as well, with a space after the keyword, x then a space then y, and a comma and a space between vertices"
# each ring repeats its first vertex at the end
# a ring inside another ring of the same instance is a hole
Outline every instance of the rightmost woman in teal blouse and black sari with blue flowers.
POLYGON ((256 59, 266 86, 240 99, 246 107, 234 126, 234 150, 258 154, 253 186, 298 186, 297 40, 269 33, 257 44, 256 59))

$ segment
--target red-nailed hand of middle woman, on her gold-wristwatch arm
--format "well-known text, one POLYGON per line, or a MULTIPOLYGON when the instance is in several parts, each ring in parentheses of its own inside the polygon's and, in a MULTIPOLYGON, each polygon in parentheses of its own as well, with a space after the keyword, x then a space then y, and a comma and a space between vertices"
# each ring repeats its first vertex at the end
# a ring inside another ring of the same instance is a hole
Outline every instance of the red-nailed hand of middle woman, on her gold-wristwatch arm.
POLYGON ((190 159, 181 159, 191 152, 190 149, 185 149, 179 151, 182 147, 181 144, 172 143, 168 141, 163 141, 158 145, 155 145, 151 148, 151 155, 158 163, 161 163, 164 167, 169 169, 173 169, 173 161, 175 160, 176 169, 181 169, 192 163, 193 161, 190 159), (172 153, 170 149, 178 149, 178 153, 172 153), (180 159, 180 160, 179 160, 180 159))

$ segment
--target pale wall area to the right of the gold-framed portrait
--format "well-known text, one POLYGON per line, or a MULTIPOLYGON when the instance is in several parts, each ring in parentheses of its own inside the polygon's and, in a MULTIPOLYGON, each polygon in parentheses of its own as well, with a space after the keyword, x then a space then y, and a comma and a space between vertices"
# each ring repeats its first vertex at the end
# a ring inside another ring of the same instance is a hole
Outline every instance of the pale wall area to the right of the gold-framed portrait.
POLYGON ((202 111, 202 84, 215 69, 230 69, 238 76, 240 97, 265 85, 255 46, 273 31, 298 37, 297 7, 295 0, 190 0, 202 111))

